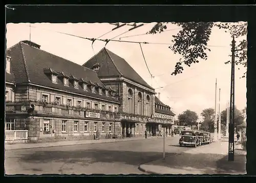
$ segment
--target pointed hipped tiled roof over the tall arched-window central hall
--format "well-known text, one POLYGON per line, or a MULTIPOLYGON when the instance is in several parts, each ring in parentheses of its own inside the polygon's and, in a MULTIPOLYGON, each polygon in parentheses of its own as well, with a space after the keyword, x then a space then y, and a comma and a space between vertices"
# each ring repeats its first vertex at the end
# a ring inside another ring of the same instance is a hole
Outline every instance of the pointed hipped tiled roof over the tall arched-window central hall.
POLYGON ((154 89, 148 85, 140 75, 123 58, 103 48, 99 53, 89 59, 83 66, 92 68, 96 63, 100 64, 99 77, 123 76, 137 82, 147 88, 154 89))

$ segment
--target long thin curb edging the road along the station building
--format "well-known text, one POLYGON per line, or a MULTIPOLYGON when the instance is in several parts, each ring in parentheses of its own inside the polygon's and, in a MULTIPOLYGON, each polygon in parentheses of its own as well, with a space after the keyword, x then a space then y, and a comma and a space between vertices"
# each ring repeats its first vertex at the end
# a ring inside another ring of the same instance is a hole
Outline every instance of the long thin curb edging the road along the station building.
MULTIPOLYGON (((167 138, 174 138, 175 136, 169 136, 167 138)), ((147 138, 147 139, 131 139, 131 140, 124 140, 124 141, 110 141, 110 142, 93 142, 93 143, 77 143, 77 144, 67 144, 67 145, 52 145, 52 146, 42 146, 42 147, 22 147, 22 148, 13 148, 13 149, 6 149, 6 151, 10 150, 19 150, 19 149, 33 149, 33 148, 46 148, 46 147, 63 147, 63 146, 75 146, 75 145, 85 145, 85 144, 104 144, 104 143, 118 143, 118 142, 126 142, 126 141, 140 141, 140 140, 150 140, 150 139, 160 139, 160 138, 147 138)))

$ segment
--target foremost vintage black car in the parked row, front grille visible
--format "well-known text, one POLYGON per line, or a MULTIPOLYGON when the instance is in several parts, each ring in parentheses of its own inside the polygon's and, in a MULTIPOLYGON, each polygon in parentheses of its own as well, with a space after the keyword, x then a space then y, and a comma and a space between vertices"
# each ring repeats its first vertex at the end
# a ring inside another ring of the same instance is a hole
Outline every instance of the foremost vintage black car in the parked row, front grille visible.
POLYGON ((200 141, 195 131, 185 130, 181 131, 181 138, 179 140, 180 146, 194 146, 197 147, 200 141))

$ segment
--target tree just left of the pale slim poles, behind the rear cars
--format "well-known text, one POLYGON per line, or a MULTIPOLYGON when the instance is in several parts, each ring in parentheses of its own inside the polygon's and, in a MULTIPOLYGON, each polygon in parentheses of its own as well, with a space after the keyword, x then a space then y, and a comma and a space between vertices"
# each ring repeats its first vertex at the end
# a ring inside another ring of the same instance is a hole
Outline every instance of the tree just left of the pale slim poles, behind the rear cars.
POLYGON ((215 110, 213 108, 204 109, 201 112, 201 116, 204 120, 201 124, 201 128, 205 131, 209 130, 212 132, 214 130, 215 110))

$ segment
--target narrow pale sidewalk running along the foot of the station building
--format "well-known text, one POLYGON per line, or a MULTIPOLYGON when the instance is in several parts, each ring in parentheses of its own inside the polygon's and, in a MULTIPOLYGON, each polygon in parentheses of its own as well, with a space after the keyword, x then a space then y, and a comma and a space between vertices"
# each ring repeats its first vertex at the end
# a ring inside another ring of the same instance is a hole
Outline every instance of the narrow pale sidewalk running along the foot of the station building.
MULTIPOLYGON (((175 136, 174 136, 175 137, 175 136)), ((82 144, 97 144, 97 143, 114 143, 123 141, 136 141, 136 140, 150 140, 150 139, 160 139, 162 137, 148 137, 147 139, 143 137, 133 137, 124 139, 100 139, 100 140, 80 140, 80 141, 57 141, 57 142, 47 142, 47 143, 20 143, 20 144, 5 144, 5 150, 14 149, 30 149, 30 148, 43 148, 43 147, 56 147, 56 146, 72 146, 72 145, 82 145, 82 144)), ((171 136, 166 137, 172 138, 171 136)))

